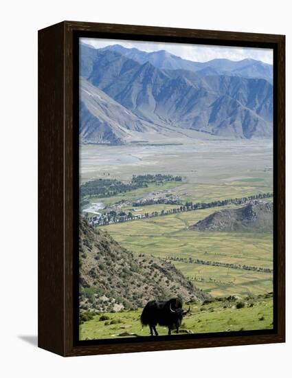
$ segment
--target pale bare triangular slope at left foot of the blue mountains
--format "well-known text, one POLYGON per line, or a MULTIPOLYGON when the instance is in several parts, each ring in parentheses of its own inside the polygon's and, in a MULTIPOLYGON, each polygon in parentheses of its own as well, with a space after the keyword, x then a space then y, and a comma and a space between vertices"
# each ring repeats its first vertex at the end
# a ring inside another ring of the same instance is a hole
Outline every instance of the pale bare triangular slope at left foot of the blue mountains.
POLYGON ((80 141, 83 144, 165 144, 211 137, 190 129, 142 120, 85 78, 80 78, 80 141))

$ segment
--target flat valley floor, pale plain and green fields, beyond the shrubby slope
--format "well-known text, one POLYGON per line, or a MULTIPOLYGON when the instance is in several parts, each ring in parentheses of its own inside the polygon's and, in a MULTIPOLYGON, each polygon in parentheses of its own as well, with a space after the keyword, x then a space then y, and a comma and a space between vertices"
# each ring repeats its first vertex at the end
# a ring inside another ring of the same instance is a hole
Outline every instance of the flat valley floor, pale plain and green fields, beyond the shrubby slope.
MULTIPOLYGON (((197 140, 183 146, 82 146, 81 182, 114 178, 128 182, 132 175, 181 175, 183 181, 150 184, 113 197, 91 198, 91 203, 112 205, 161 190, 181 201, 212 202, 273 192, 273 148, 269 141, 197 140)), ((272 201, 273 199, 265 199, 272 201)), ((176 205, 142 206, 138 214, 161 212, 176 205)), ((186 263, 193 258, 273 269, 273 235, 269 233, 197 232, 189 227, 216 210, 230 206, 179 212, 151 219, 115 223, 104 228, 134 254, 171 258, 172 263, 197 287, 212 296, 249 295, 273 290, 272 273, 186 263)), ((106 211, 106 210, 104 210, 106 211)))

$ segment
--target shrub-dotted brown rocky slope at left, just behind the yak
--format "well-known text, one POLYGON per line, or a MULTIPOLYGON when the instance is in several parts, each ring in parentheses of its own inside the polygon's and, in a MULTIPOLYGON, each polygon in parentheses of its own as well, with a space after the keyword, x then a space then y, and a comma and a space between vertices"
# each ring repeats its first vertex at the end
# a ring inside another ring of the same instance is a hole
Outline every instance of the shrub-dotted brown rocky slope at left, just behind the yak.
POLYGON ((79 251, 81 311, 119 311, 173 296, 198 301, 210 298, 171 263, 135 256, 85 219, 80 220, 79 251))

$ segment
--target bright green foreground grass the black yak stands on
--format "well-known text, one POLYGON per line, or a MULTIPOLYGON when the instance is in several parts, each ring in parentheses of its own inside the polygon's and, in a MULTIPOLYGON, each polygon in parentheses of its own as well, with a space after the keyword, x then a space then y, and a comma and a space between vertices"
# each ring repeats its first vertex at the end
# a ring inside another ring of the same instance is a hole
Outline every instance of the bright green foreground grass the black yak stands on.
MULTIPOLYGON (((181 329, 192 333, 249 331, 271 329, 273 327, 273 300, 271 296, 258 298, 243 298, 245 307, 236 309, 233 301, 215 300, 210 304, 191 304, 191 310, 183 318, 181 329), (252 306, 252 307, 250 307, 252 306)), ((185 304, 184 307, 188 307, 185 304)), ((80 340, 113 339, 120 333, 137 333, 148 336, 148 326, 142 326, 139 321, 142 309, 117 313, 106 313, 109 320, 100 321, 100 315, 80 325, 80 340), (117 324, 110 324, 117 321, 117 324)), ((104 315, 104 314, 103 314, 104 315)), ((167 329, 157 326, 159 335, 167 335, 167 329)), ((176 335, 176 333, 172 333, 176 335)))

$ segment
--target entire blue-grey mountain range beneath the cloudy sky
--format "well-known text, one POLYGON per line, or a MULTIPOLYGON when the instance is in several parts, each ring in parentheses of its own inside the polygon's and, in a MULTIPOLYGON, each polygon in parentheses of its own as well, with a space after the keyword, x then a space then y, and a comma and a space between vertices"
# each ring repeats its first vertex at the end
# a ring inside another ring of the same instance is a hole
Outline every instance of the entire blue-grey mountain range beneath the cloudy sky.
POLYGON ((207 63, 165 51, 81 44, 82 142, 149 142, 178 134, 194 137, 193 131, 227 138, 271 137, 271 66, 247 59, 207 63))

